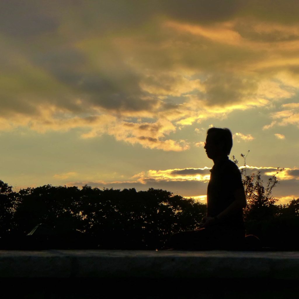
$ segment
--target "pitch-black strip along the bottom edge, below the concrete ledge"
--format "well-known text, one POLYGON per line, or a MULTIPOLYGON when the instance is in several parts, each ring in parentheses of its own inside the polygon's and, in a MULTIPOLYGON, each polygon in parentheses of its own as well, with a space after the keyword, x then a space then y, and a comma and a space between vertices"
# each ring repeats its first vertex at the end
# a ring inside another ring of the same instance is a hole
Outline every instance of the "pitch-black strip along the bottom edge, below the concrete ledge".
POLYGON ((286 299, 298 298, 297 280, 16 278, 2 279, 5 298, 286 299))

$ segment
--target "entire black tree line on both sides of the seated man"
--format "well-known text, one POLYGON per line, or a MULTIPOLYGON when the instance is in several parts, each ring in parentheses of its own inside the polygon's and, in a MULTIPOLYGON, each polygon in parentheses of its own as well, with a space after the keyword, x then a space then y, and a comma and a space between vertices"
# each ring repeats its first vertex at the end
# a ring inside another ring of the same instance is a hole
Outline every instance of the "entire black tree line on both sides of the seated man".
MULTIPOLYGON (((271 195, 276 175, 264 183, 260 172, 241 172, 246 233, 259 237, 264 247, 298 249, 299 198, 277 205, 271 195)), ((171 234, 199 228, 206 209, 161 189, 44 185, 16 192, 0 181, 0 247, 165 248, 171 234)))

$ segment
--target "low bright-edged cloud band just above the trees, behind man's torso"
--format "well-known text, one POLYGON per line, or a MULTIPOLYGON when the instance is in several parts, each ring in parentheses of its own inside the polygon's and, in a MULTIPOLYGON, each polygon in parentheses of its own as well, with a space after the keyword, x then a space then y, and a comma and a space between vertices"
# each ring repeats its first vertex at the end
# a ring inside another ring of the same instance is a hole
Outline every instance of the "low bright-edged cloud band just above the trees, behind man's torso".
MULTIPOLYGON (((242 169, 243 167, 239 168, 242 169)), ((65 184, 67 186, 84 186, 87 184, 91 187, 114 189, 136 188, 136 190, 147 190, 152 187, 169 190, 182 196, 193 197, 205 202, 207 183, 210 179, 209 170, 209 167, 147 170, 122 181, 81 180, 68 181, 65 184)), ((277 168, 246 166, 247 175, 257 173, 258 171, 260 171, 261 178, 264 181, 264 185, 266 185, 268 179, 276 174, 277 168)), ((298 192, 299 168, 286 168, 277 174, 277 179, 280 181, 280 184, 273 190, 273 196, 281 198, 283 202, 286 202, 289 199, 289 197, 286 197, 286 194, 296 194, 298 192)), ((291 197, 297 198, 298 196, 292 195, 291 197)))

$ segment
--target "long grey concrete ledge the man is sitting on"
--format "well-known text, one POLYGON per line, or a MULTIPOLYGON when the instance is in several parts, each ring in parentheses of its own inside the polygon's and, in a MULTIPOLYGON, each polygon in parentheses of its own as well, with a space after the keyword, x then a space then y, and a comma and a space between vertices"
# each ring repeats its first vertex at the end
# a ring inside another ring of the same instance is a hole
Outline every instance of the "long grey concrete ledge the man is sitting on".
POLYGON ((0 251, 0 277, 299 280, 299 252, 0 251))

